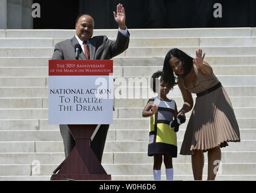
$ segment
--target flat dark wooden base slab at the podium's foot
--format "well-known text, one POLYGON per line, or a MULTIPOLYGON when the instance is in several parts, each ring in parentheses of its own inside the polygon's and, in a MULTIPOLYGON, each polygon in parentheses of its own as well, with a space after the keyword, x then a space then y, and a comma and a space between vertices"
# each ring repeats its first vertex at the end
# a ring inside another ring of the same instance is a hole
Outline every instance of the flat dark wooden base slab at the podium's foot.
POLYGON ((111 180, 111 175, 106 174, 53 174, 51 180, 111 180))

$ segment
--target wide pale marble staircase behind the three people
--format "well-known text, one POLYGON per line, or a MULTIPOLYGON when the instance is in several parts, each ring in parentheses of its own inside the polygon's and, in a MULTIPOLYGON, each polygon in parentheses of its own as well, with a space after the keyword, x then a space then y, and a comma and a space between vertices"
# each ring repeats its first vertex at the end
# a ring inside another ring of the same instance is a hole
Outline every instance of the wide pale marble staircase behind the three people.
MULTIPOLYGON (((230 142, 229 147, 222 148, 216 180, 256 180, 256 28, 129 31, 129 48, 113 59, 114 87, 117 93, 137 89, 139 95, 116 98, 114 122, 102 160, 112 179, 153 180, 153 157, 147 156, 149 119, 141 116, 153 92, 144 80, 162 68, 169 49, 179 48, 194 57, 195 51, 202 48, 205 61, 231 98, 241 134, 240 143, 230 142), (120 85, 123 80, 142 84, 125 87, 120 85)), ((0 180, 50 180, 64 160, 59 127, 48 125, 48 60, 54 45, 74 33, 75 30, 0 30, 0 180)), ((94 36, 100 34, 115 39, 117 30, 94 30, 94 36)), ((168 96, 176 101, 178 109, 182 107, 179 87, 174 87, 168 96)), ((177 133, 178 151, 190 114, 177 133)), ((190 156, 178 154, 173 163, 174 180, 193 180, 190 156)), ((205 163, 203 180, 207 179, 206 154, 205 163)))

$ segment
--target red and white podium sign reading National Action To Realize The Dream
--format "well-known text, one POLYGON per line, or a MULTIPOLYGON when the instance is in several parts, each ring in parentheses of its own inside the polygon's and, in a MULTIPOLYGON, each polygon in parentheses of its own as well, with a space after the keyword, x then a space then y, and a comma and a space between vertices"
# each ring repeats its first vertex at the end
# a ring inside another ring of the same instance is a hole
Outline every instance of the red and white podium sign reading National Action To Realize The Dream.
POLYGON ((49 60, 49 124, 113 123, 113 60, 49 60))

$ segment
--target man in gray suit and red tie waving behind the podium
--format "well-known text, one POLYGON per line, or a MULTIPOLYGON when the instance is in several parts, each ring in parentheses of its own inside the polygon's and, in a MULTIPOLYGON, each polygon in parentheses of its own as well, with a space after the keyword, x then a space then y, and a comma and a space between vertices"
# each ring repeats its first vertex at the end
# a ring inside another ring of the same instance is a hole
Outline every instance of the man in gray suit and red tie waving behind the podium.
MULTIPOLYGON (((94 21, 88 14, 82 14, 76 19, 76 35, 72 39, 56 43, 51 60, 76 60, 74 45, 79 43, 82 52, 79 60, 109 60, 122 53, 129 45, 129 32, 125 25, 125 8, 122 4, 117 5, 114 19, 119 25, 116 40, 109 40, 107 36, 93 36, 94 21)), ((99 130, 91 142, 91 148, 101 162, 107 132, 110 125, 100 125, 99 130)), ((74 147, 74 138, 68 125, 59 125, 64 141, 65 157, 71 153, 74 147)))

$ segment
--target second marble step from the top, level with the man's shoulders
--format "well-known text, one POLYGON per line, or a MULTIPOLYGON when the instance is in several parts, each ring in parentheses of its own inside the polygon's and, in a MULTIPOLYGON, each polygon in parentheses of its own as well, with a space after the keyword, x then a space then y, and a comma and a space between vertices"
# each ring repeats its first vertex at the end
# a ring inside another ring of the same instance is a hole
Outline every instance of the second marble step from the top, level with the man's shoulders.
MULTIPOLYGON (((110 38, 115 40, 116 38, 110 38)), ((54 47, 66 38, 1 38, 1 48, 54 47)), ((131 37, 129 46, 246 46, 256 45, 256 37, 131 37)))

